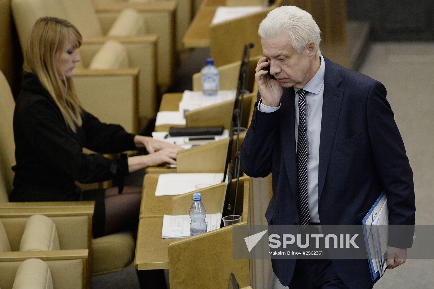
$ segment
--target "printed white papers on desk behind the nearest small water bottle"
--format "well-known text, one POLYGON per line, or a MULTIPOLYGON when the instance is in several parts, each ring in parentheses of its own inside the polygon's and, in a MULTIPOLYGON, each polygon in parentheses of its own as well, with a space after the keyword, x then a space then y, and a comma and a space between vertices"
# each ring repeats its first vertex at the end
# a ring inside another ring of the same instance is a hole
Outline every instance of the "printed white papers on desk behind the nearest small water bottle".
MULTIPOLYGON (((163 229, 161 238, 186 238, 190 236, 190 216, 189 215, 164 215, 163 229)), ((207 232, 220 228, 221 213, 207 214, 205 217, 207 232)))

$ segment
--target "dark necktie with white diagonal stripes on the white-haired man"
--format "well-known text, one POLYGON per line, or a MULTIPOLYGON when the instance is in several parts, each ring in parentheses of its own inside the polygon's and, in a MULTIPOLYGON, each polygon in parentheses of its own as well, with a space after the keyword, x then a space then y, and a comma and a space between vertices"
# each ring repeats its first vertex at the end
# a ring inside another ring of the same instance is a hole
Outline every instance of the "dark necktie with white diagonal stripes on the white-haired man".
POLYGON ((306 141, 306 91, 299 94, 299 127, 297 138, 297 173, 299 185, 299 225, 304 229, 310 222, 307 201, 307 141, 306 141))

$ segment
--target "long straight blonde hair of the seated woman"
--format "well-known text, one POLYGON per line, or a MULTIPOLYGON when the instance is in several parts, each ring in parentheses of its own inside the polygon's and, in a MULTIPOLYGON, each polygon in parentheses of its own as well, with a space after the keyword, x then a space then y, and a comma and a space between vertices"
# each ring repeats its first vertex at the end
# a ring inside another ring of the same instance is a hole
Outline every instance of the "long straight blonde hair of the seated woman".
POLYGON ((80 102, 72 79, 65 76, 61 79, 55 63, 56 54, 62 53, 69 42, 77 48, 82 43, 82 36, 74 25, 55 17, 39 18, 29 36, 23 71, 38 77, 59 107, 66 124, 76 132, 76 128, 82 125, 80 102))

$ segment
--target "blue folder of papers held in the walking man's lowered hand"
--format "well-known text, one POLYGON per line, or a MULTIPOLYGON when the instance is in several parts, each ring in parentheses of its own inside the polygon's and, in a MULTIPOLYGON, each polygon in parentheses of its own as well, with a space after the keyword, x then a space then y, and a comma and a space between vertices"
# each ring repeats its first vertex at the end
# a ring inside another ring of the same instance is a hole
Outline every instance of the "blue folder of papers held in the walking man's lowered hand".
POLYGON ((375 280, 378 275, 383 276, 387 267, 388 216, 386 194, 383 192, 362 220, 372 280, 375 280))

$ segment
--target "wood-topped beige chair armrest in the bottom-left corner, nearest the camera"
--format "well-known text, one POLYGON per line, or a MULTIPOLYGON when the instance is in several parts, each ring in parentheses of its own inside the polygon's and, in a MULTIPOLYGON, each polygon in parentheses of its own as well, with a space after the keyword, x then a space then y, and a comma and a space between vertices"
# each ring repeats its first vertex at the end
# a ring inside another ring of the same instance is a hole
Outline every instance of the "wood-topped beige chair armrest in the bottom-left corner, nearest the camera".
POLYGON ((2 252, 0 256, 0 286, 12 288, 16 271, 26 259, 45 261, 56 289, 84 289, 90 279, 86 275, 89 250, 59 250, 39 252, 2 252))

